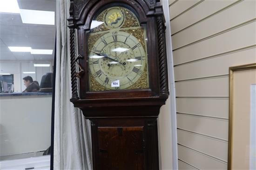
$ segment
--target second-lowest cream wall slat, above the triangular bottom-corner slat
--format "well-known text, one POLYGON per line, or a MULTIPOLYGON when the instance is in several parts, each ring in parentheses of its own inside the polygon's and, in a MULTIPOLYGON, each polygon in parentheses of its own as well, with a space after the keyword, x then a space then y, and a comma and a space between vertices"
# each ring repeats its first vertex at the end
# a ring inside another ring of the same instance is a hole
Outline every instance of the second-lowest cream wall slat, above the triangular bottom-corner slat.
POLYGON ((178 157, 200 170, 226 170, 227 164, 178 145, 178 157))

